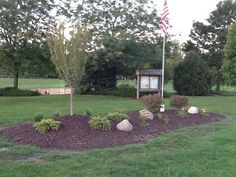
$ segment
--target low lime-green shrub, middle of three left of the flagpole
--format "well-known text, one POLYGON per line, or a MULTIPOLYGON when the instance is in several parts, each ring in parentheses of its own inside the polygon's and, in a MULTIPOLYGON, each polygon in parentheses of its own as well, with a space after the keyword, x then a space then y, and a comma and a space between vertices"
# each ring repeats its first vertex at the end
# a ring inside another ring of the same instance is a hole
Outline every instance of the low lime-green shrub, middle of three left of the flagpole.
POLYGON ((100 116, 92 117, 88 123, 89 126, 94 129, 100 129, 104 131, 108 131, 111 129, 111 123, 107 117, 100 117, 100 116))

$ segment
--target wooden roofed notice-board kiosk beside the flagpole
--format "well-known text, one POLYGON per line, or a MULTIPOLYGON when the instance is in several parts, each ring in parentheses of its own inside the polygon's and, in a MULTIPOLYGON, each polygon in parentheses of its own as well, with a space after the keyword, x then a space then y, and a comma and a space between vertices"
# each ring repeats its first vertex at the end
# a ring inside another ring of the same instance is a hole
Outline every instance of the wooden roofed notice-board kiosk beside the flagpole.
POLYGON ((161 90, 162 70, 140 69, 136 71, 137 76, 137 99, 140 94, 159 93, 161 90))

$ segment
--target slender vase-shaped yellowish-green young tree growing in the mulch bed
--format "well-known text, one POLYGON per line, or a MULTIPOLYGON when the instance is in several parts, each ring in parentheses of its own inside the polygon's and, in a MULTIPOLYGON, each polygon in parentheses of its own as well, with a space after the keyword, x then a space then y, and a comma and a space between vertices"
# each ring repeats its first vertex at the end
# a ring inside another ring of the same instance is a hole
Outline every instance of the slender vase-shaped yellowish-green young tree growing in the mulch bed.
POLYGON ((73 115, 74 91, 78 89, 85 71, 88 40, 89 34, 87 30, 79 25, 70 32, 70 38, 67 39, 63 24, 55 28, 54 33, 48 39, 51 60, 55 64, 59 76, 71 88, 70 115, 73 115))

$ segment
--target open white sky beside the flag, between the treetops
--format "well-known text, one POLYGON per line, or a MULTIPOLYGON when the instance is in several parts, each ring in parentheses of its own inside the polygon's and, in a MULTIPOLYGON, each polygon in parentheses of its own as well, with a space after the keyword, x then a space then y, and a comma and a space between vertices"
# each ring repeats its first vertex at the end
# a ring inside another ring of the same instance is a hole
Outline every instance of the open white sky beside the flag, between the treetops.
MULTIPOLYGON (((162 12, 164 0, 153 0, 158 12, 162 12)), ((169 8, 170 33, 176 35, 181 43, 186 42, 192 29, 193 21, 204 22, 210 13, 216 9, 221 0, 167 0, 169 8)))

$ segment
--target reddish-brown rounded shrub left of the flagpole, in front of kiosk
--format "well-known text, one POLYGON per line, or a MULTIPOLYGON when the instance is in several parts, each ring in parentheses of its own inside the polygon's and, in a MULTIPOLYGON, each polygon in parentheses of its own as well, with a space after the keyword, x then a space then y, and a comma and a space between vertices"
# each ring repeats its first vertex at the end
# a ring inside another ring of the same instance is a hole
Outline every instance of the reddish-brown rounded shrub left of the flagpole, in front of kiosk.
POLYGON ((140 98, 140 101, 152 112, 158 112, 163 103, 159 94, 145 95, 140 98))

